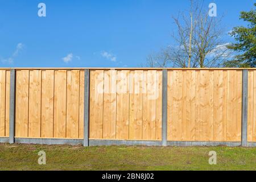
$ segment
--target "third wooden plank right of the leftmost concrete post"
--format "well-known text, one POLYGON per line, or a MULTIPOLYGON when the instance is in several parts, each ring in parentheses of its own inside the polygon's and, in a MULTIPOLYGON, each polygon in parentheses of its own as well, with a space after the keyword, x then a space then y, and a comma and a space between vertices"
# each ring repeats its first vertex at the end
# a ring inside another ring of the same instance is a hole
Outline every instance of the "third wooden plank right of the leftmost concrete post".
POLYGON ((42 71, 41 137, 53 138, 54 71, 42 71))

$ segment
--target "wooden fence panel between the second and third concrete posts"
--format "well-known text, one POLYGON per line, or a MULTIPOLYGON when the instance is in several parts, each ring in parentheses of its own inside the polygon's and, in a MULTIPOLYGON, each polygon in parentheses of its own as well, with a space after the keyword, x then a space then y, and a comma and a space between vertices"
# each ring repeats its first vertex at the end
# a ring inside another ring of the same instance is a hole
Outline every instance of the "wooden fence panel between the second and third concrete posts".
POLYGON ((162 71, 90 71, 90 139, 161 140, 162 71))

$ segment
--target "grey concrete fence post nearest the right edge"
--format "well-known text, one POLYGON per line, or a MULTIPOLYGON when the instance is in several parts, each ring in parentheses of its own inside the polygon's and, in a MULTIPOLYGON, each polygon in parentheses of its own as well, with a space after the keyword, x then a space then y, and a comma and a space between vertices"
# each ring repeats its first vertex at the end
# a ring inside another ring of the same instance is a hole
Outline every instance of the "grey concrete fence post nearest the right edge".
POLYGON ((242 71, 242 146, 247 147, 248 70, 242 71))

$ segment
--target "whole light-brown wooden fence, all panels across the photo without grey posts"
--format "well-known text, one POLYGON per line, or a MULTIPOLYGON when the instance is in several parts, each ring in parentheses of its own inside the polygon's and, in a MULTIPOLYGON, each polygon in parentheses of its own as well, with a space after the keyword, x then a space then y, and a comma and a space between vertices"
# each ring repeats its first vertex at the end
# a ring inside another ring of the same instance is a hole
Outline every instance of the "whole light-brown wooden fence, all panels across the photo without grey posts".
MULTIPOLYGON (((162 69, 15 70, 15 138, 162 140, 162 69)), ((0 69, 0 137, 9 137, 10 69, 0 69)), ((256 70, 248 70, 247 141, 256 142, 256 70), (255 97, 254 97, 255 95, 255 97)), ((241 142, 242 69, 168 69, 167 140, 241 142)))

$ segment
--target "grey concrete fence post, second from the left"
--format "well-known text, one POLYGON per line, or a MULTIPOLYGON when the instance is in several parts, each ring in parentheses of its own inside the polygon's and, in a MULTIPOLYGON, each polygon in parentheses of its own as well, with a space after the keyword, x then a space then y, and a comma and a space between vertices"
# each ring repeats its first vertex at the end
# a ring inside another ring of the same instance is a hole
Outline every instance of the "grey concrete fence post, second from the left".
POLYGON ((89 146, 89 85, 90 85, 90 71, 84 71, 84 146, 89 146))

